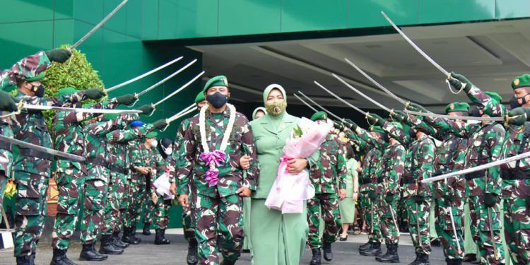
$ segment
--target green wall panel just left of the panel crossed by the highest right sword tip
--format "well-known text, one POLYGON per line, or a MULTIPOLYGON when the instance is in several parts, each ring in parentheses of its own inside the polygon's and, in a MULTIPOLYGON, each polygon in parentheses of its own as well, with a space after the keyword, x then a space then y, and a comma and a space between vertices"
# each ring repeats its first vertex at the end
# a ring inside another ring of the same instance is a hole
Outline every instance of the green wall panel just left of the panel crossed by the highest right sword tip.
POLYGON ((331 30, 348 27, 348 0, 283 0, 281 31, 331 30))

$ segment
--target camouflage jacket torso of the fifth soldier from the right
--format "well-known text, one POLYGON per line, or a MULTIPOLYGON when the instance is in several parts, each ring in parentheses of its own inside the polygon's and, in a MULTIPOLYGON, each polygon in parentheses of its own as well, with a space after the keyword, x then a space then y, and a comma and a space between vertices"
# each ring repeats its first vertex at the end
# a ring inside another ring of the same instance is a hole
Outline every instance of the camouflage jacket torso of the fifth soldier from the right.
POLYGON ((399 194, 399 182, 405 170, 405 148, 400 143, 389 144, 382 159, 382 179, 377 183, 378 194, 399 194))

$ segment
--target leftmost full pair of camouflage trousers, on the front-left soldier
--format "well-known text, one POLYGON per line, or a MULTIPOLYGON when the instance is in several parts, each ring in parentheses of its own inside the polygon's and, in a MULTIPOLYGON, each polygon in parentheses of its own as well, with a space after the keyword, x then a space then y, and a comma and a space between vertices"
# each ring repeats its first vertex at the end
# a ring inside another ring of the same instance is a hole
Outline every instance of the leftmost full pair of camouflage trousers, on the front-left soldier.
POLYGON ((37 252, 47 213, 48 177, 15 170, 15 257, 37 252))

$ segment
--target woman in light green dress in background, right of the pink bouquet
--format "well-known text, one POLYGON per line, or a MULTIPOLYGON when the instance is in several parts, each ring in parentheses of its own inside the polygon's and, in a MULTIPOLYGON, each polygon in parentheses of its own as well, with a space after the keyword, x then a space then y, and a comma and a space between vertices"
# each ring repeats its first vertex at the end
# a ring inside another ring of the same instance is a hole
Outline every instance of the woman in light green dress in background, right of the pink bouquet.
POLYGON ((353 147, 349 144, 346 148, 346 197, 338 202, 338 209, 341 210, 342 233, 339 240, 348 239, 348 228, 355 222, 355 201, 359 194, 358 163, 354 158, 353 147))

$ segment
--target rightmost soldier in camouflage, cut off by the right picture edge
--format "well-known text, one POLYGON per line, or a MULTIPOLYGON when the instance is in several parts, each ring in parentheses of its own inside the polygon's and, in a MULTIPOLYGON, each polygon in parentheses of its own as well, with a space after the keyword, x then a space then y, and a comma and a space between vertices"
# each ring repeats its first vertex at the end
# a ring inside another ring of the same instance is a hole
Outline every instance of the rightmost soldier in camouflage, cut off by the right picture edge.
MULTIPOLYGON (((522 107, 510 111, 502 158, 530 151, 530 75, 512 81, 514 95, 522 107), (524 115, 526 114, 526 117, 524 115)), ((530 160, 500 165, 504 199, 505 239, 513 264, 530 264, 530 160)))

